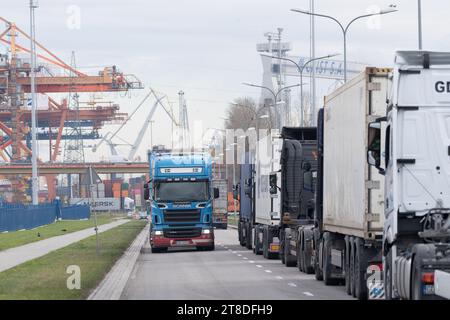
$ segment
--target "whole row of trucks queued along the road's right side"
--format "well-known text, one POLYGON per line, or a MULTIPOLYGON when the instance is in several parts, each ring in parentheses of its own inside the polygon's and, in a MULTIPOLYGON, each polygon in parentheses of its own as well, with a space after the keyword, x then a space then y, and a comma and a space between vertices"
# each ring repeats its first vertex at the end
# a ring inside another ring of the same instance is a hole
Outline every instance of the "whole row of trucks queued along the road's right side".
POLYGON ((358 299, 450 299, 450 54, 401 51, 241 165, 239 242, 358 299))

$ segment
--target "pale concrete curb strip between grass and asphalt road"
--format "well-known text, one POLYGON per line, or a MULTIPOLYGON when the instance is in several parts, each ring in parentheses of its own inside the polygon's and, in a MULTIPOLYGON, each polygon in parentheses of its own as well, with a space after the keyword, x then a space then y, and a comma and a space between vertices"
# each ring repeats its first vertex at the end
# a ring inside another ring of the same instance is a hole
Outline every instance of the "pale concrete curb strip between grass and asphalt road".
POLYGON ((133 240, 130 247, 114 264, 99 286, 89 295, 88 300, 119 300, 128 282, 134 265, 141 253, 149 232, 149 224, 133 240))

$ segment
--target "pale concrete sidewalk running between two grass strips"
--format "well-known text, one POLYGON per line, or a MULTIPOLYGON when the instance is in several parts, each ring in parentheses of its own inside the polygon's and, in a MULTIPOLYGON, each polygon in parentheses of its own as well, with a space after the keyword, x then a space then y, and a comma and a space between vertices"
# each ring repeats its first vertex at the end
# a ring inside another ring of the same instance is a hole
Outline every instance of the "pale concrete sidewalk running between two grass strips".
MULTIPOLYGON (((105 232, 128 221, 129 220, 121 219, 101 225, 98 227, 98 232, 105 232)), ((94 228, 89 228, 0 251, 0 272, 24 262, 42 257, 51 251, 64 248, 93 235, 95 235, 94 228)))

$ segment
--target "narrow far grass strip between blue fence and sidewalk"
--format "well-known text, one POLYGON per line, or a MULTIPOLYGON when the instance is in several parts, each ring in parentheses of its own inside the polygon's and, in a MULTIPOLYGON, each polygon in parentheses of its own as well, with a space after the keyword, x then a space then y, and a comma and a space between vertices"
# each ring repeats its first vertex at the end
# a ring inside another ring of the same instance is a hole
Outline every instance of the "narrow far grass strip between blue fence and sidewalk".
MULTIPOLYGON (((97 223, 98 225, 102 225, 112 222, 114 220, 114 217, 117 218, 119 216, 113 216, 110 214, 97 214, 97 223)), ((0 233, 0 251, 91 227, 94 227, 93 214, 91 215, 91 218, 89 220, 56 221, 55 223, 31 230, 0 233)))

